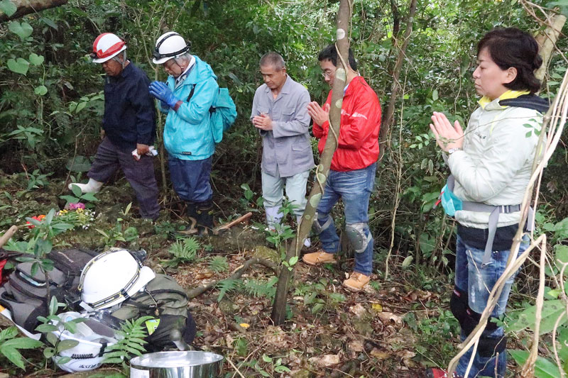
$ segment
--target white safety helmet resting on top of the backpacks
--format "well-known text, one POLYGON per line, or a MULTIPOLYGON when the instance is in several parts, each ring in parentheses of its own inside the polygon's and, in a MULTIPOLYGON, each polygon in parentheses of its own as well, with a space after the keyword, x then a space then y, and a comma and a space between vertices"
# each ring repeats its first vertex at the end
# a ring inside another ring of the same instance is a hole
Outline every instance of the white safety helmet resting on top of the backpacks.
POLYGON ((127 250, 108 250, 92 258, 81 272, 81 304, 88 311, 120 304, 146 287, 155 273, 127 250))

